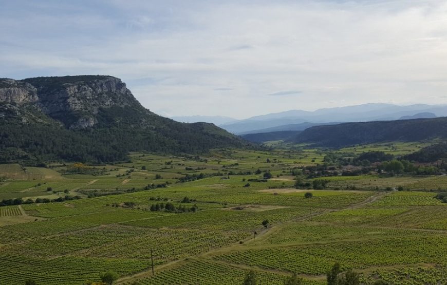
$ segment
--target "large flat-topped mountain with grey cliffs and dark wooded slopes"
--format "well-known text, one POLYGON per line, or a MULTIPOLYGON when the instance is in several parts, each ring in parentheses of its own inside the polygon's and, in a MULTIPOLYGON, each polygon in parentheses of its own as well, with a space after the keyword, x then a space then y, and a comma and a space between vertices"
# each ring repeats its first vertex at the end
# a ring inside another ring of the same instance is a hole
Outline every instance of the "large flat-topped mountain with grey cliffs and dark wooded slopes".
POLYGON ((144 108, 102 75, 0 79, 0 162, 126 160, 129 151, 198 154, 245 145, 210 123, 179 123, 144 108))

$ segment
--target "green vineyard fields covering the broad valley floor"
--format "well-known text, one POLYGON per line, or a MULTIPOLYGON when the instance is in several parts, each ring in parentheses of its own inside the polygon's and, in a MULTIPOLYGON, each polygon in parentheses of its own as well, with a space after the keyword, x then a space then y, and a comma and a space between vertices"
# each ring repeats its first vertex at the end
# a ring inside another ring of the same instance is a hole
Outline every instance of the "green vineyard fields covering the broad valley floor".
MULTIPOLYGON (((347 150, 407 153, 423 145, 347 150)), ((82 285, 107 271, 118 274, 114 284, 242 284, 253 270, 260 284, 283 284, 296 273, 319 285, 335 262, 365 285, 379 278, 445 284, 447 203, 430 190, 447 187, 447 178, 368 173, 306 178, 327 185, 295 188, 293 171, 325 154, 132 153, 129 162, 79 171, 0 165, 0 201, 22 199, 0 207, 0 284, 82 285)))

